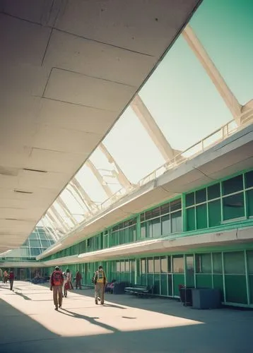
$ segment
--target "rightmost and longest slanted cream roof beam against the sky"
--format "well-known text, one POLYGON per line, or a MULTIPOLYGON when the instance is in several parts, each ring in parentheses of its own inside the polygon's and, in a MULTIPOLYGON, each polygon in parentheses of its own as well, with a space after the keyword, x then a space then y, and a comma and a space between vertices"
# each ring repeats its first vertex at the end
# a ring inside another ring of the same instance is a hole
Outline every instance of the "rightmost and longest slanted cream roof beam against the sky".
POLYGON ((225 83, 224 78, 220 75, 220 72, 213 64, 213 61, 211 60, 210 56, 208 56, 206 50, 199 41, 198 37, 196 37, 196 34, 190 25, 187 25, 184 28, 182 31, 182 36, 184 37, 184 40, 186 40, 187 44, 189 44, 189 47, 192 49, 196 57, 199 59, 208 76, 213 81, 213 84, 216 86, 216 89, 220 93, 228 109, 230 109, 235 122, 238 126, 240 126, 242 106, 237 101, 235 95, 233 95, 233 92, 230 90, 227 83, 225 83))

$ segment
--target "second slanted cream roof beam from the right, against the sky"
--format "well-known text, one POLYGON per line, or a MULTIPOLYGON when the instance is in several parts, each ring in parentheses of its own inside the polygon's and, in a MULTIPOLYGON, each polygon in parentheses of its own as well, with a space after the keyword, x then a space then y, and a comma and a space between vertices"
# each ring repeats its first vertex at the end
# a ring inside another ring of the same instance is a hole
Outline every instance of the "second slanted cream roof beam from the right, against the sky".
POLYGON ((146 129, 148 135, 151 137, 151 140, 153 140, 153 143, 155 143, 161 155, 163 155, 165 162, 172 160, 175 155, 177 155, 178 151, 175 151, 170 146, 170 143, 167 142, 163 132, 160 130, 158 124, 156 124, 155 119, 153 119, 153 116, 139 95, 134 97, 134 100, 130 103, 130 107, 134 110, 136 116, 139 121, 141 121, 141 124, 146 129))

